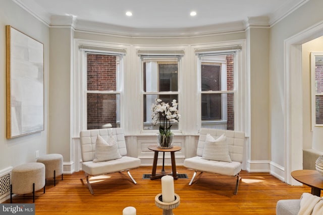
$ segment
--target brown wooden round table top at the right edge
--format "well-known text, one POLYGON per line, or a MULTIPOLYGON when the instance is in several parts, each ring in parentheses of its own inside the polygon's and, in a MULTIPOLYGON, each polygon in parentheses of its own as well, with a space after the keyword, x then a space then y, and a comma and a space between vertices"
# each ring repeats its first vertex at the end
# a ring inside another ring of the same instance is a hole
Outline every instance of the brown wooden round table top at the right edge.
POLYGON ((295 170, 292 177, 303 184, 318 189, 323 189, 323 176, 316 170, 295 170))

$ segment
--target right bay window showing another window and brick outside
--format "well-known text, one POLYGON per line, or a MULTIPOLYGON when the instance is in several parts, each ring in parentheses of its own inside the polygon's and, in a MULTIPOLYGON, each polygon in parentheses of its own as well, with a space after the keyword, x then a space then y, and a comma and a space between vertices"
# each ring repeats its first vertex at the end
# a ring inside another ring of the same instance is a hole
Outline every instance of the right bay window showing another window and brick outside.
POLYGON ((234 130, 235 51, 198 54, 201 127, 234 130))

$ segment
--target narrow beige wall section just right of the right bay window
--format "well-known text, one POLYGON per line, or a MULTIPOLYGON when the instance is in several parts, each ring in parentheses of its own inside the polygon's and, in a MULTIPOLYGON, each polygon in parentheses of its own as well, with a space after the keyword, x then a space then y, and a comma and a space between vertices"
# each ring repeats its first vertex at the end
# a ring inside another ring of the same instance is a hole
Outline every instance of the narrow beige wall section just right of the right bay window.
POLYGON ((269 32, 268 28, 249 29, 250 48, 250 160, 253 171, 269 171, 269 32), (257 162, 258 161, 258 162, 257 162), (262 161, 262 162, 261 162, 262 161))

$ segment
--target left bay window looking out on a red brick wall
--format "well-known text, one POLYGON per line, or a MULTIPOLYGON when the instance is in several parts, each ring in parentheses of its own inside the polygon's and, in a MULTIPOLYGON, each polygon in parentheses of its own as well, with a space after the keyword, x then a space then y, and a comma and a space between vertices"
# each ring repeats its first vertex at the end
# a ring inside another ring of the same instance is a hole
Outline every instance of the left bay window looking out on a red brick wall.
POLYGON ((120 127, 122 54, 86 50, 87 129, 120 127))

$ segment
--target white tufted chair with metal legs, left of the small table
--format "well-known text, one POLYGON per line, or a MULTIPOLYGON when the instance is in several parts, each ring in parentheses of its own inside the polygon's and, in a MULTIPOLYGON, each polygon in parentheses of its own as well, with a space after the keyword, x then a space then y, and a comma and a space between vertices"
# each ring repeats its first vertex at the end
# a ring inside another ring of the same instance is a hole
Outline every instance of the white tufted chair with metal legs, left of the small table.
POLYGON ((82 170, 85 172, 87 186, 91 194, 94 192, 89 182, 89 176, 127 171, 133 183, 137 184, 129 170, 139 167, 141 165, 141 161, 138 158, 127 156, 126 141, 122 128, 82 130, 80 132, 80 142, 82 170), (121 158, 109 161, 93 162, 95 156, 95 142, 98 134, 105 140, 107 140, 111 134, 116 137, 121 158))

